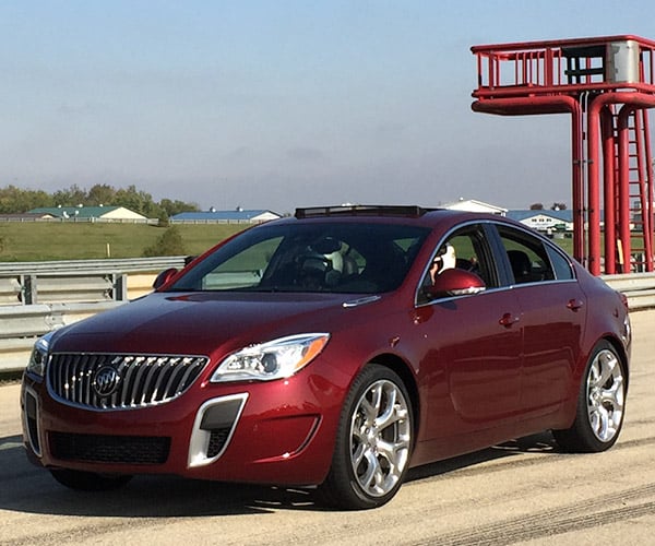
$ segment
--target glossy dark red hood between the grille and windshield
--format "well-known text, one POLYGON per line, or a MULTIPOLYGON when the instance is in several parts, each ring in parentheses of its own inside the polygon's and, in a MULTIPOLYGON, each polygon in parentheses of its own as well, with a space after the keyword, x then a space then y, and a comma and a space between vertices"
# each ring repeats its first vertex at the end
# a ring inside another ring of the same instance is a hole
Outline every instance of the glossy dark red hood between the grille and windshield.
POLYGON ((58 331, 53 352, 212 355, 306 332, 343 328, 376 298, 288 293, 154 293, 58 331), (345 302, 349 305, 344 306, 345 302), (368 304, 368 305, 367 305, 368 304))

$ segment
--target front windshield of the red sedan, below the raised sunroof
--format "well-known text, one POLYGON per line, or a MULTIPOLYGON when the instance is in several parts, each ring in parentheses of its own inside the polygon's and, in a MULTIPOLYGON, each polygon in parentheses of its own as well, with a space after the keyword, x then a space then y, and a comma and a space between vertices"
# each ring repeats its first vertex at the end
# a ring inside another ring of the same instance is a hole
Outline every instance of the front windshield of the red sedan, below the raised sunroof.
POLYGON ((389 292, 428 233, 394 224, 264 225, 228 241, 168 290, 389 292))

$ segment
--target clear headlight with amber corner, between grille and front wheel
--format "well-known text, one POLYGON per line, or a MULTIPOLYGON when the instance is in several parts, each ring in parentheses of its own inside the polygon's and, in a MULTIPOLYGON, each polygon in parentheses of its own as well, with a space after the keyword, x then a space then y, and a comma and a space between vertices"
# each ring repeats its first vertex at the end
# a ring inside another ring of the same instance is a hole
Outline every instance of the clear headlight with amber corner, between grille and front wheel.
POLYGON ((330 334, 289 335, 251 345, 225 358, 212 376, 213 382, 287 378, 313 360, 330 334))

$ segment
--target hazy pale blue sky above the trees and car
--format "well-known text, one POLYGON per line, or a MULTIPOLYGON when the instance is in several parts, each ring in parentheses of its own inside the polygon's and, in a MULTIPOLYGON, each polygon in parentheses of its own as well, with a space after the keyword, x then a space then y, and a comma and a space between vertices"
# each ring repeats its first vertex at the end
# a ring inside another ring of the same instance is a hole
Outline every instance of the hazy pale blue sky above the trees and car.
POLYGON ((474 114, 469 48, 654 22, 652 0, 2 0, 0 187, 570 205, 569 117, 474 114))

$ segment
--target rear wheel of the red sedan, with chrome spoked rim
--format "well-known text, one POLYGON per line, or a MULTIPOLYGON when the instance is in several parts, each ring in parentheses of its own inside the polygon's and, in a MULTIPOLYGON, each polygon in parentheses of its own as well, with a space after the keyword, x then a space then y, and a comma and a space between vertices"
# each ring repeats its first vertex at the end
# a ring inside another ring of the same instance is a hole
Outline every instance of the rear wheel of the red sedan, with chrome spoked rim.
POLYGON ((580 384, 573 426, 552 431, 559 446, 580 453, 611 448, 623 425, 627 387, 626 364, 609 342, 599 342, 580 384))

